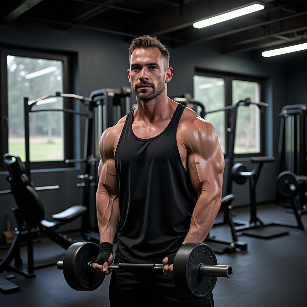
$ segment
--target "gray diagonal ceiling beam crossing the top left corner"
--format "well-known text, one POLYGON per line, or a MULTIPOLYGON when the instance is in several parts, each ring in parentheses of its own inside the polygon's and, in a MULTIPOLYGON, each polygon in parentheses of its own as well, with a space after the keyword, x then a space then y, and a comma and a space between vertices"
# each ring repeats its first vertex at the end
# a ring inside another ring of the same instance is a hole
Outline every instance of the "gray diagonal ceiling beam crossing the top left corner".
POLYGON ((1 3, 0 22, 9 23, 42 0, 10 0, 1 3))

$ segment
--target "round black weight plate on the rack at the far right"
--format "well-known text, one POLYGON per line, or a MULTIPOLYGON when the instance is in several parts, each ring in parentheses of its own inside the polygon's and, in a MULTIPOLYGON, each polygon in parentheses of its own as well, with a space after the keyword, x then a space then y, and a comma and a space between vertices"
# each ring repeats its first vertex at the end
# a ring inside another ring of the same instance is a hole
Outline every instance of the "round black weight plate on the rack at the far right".
POLYGON ((285 171, 277 176, 276 186, 280 194, 291 197, 297 194, 300 184, 296 174, 285 171))

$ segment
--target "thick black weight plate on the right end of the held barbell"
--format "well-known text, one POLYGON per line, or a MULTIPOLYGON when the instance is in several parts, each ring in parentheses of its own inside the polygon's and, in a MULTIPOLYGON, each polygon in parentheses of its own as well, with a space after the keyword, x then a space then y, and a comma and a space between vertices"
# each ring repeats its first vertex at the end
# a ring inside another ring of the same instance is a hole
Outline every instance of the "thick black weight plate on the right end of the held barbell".
POLYGON ((202 277, 200 265, 217 265, 214 252, 207 244, 186 243, 174 259, 173 279, 178 292, 194 297, 209 295, 217 277, 202 277))

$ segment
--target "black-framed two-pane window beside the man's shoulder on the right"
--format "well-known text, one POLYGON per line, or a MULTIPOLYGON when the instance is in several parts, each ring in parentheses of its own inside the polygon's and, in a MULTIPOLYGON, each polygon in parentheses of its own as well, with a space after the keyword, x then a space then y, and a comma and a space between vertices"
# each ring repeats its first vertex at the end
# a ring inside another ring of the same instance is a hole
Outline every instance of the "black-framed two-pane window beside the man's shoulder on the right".
MULTIPOLYGON (((236 99, 260 101, 261 80, 200 72, 194 76, 194 99, 204 103, 206 111, 230 106, 236 99)), ((215 127, 223 153, 227 155, 230 111, 209 113, 205 119, 215 127)), ((262 114, 255 105, 238 107, 235 149, 236 155, 262 155, 262 114)))

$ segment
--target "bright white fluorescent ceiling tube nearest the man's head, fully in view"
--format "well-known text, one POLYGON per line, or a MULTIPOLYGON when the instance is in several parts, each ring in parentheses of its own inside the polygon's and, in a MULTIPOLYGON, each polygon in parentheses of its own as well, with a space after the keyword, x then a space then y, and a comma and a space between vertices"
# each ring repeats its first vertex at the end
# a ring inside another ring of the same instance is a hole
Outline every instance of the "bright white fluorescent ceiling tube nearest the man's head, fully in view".
POLYGON ((263 9, 264 5, 262 4, 252 4, 250 6, 246 6, 238 10, 230 11, 224 14, 220 14, 214 17, 209 17, 201 21, 194 22, 193 27, 198 29, 208 27, 209 25, 215 25, 216 23, 226 21, 235 17, 243 16, 246 14, 250 14, 263 9))

